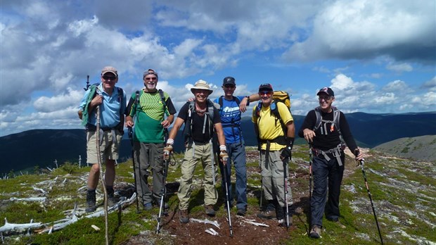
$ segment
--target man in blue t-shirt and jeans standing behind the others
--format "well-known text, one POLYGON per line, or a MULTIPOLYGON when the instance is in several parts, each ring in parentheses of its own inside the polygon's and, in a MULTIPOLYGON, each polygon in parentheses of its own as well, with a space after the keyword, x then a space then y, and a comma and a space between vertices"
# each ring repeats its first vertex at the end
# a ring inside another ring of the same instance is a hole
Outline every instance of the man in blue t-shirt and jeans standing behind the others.
MULTIPOLYGON (((236 170, 236 208, 238 208, 238 213, 236 214, 243 216, 247 211, 247 169, 245 168, 245 143, 241 130, 241 111, 245 112, 245 106, 248 106, 250 103, 250 96, 233 96, 236 89, 233 77, 224 78, 222 89, 224 90, 224 96, 214 100, 220 106, 219 114, 221 116, 224 137, 226 137, 227 153, 229 154, 229 160, 226 165, 223 165, 221 162, 219 163, 222 176, 222 190, 226 193, 226 186, 224 184, 224 176, 226 176, 231 208, 233 196, 230 175, 231 161, 233 161, 236 170), (241 110, 240 104, 243 105, 241 110), (226 170, 226 175, 224 175, 224 170, 226 170)), ((226 208, 228 207, 226 206, 226 208)))

